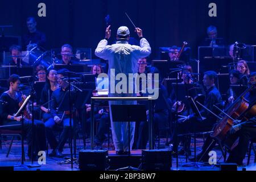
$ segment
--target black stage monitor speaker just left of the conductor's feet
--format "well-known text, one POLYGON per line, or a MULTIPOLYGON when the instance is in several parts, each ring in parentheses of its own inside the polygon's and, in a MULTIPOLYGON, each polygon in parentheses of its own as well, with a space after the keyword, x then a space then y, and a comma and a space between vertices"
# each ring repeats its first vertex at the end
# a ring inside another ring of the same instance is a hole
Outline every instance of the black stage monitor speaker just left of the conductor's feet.
POLYGON ((82 150, 79 152, 80 171, 106 171, 108 150, 82 150))

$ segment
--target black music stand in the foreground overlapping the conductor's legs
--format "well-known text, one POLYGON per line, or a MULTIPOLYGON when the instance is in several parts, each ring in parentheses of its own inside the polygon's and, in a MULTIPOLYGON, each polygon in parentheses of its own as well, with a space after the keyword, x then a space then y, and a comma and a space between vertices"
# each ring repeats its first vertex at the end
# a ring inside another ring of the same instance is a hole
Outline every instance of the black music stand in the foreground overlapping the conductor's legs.
MULTIPOLYGON (((130 122, 147 121, 146 105, 111 105, 113 122, 128 122, 129 147, 128 160, 131 156, 130 146, 130 122)), ((130 160, 129 160, 130 161, 130 160)), ((139 171, 138 168, 130 166, 117 169, 117 171, 139 171)))

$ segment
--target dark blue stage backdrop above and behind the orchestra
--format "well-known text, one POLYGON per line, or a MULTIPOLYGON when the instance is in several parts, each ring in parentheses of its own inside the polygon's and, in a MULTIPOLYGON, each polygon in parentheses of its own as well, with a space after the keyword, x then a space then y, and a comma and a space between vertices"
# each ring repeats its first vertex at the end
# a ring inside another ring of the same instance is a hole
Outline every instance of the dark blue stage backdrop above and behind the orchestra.
MULTIPOLYGON (((119 26, 134 29, 125 12, 143 29, 152 47, 151 59, 156 59, 159 47, 181 46, 183 41, 189 43, 196 57, 197 46, 207 36, 210 24, 218 28, 218 36, 224 37, 228 44, 256 42, 254 0, 1 0, 0 24, 14 26, 5 30, 6 35, 20 36, 27 31, 27 16, 35 16, 38 30, 47 35, 48 49, 69 43, 73 47, 92 48, 94 52, 105 36, 107 14, 112 18, 111 41, 119 26), (41 2, 46 3, 47 9, 43 18, 38 17, 41 2), (210 18, 208 5, 212 2, 217 4, 217 17, 210 18)), ((134 32, 131 35, 137 37, 134 32)))

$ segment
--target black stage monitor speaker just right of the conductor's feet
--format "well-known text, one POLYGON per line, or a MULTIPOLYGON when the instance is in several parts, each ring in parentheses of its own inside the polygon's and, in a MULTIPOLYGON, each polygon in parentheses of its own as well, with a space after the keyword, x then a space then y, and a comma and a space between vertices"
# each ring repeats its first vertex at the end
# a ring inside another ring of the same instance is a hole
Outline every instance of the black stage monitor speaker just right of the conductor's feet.
POLYGON ((146 171, 170 171, 172 167, 171 150, 143 150, 142 168, 146 171))

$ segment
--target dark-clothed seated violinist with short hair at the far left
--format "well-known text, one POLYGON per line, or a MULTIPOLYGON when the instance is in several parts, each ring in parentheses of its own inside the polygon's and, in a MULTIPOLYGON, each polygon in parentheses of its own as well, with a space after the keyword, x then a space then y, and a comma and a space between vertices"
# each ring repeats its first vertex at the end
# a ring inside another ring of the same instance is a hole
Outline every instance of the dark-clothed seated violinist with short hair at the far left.
MULTIPOLYGON (((14 116, 15 113, 19 110, 19 107, 22 105, 24 100, 26 100, 26 96, 22 95, 19 92, 20 80, 18 75, 11 75, 8 79, 9 82, 9 90, 2 94, 0 100, 3 101, 4 104, 0 105, 0 115, 2 120, 2 125, 10 126, 9 130, 20 130, 20 126, 12 126, 21 124, 22 115, 14 116)), ((33 160, 36 160, 36 156, 38 151, 46 150, 46 135, 44 123, 38 120, 34 120, 34 125, 36 131, 33 132, 35 135, 32 136, 32 122, 29 118, 24 118, 24 132, 27 135, 28 142, 28 157, 33 160), (32 137, 33 139, 33 154, 31 154, 31 145, 32 145, 32 137)))

